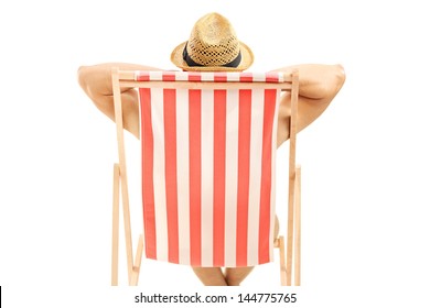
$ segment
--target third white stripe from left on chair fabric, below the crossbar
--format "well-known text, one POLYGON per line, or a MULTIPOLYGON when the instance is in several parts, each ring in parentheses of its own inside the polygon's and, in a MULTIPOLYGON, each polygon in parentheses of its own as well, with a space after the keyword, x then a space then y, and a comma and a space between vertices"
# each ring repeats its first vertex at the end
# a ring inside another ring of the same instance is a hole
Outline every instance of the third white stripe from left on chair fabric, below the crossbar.
POLYGON ((214 91, 202 90, 202 266, 213 264, 214 91))

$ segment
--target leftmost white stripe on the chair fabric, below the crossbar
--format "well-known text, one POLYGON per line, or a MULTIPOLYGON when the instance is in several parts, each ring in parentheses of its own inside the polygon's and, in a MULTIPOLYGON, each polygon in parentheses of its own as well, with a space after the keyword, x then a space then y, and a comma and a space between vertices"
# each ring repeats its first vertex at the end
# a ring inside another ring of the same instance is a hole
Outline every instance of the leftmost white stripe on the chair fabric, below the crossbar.
POLYGON ((151 90, 151 119, 153 130, 153 189, 155 205, 157 258, 168 261, 168 216, 164 174, 164 114, 163 90, 151 90))

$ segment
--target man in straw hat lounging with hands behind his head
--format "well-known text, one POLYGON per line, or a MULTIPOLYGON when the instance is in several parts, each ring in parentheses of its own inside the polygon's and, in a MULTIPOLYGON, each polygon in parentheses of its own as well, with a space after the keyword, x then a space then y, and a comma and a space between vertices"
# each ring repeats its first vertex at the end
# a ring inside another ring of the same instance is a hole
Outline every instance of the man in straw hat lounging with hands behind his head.
MULTIPOLYGON (((237 40, 233 26, 223 15, 209 13, 194 25, 190 38, 176 46, 171 61, 183 70, 241 72, 254 62, 251 50, 237 40)), ((123 63, 107 63, 83 66, 78 70, 80 87, 96 107, 115 121, 111 86, 111 68, 160 70, 159 68, 123 63)), ((299 70, 298 131, 312 123, 329 107, 345 80, 341 65, 304 64, 276 69, 291 73, 299 70)), ((139 132, 139 105, 136 89, 122 88, 122 112, 125 129, 136 138, 139 132)), ((290 95, 284 94, 278 116, 277 145, 289 139, 290 95)), ((276 224, 275 234, 278 232, 276 224)), ((225 268, 193 267, 195 274, 207 286, 236 286, 251 272, 252 267, 225 268)))

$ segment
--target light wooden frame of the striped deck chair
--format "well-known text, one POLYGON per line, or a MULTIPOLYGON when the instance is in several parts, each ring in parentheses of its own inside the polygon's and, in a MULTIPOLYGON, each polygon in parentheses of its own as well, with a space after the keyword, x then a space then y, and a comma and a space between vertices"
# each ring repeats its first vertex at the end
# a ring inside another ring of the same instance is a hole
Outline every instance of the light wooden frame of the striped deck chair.
MULTIPOLYGON (((206 81, 137 81, 136 70, 112 69, 112 90, 115 103, 115 121, 117 128, 119 163, 114 164, 114 207, 112 207, 112 246, 111 246, 111 285, 118 285, 118 246, 119 246, 119 211, 120 199, 122 204, 123 228, 126 240, 127 272, 129 285, 138 285, 140 265, 143 253, 143 235, 140 234, 133 257, 130 207, 127 182, 126 152, 123 140, 122 106, 120 87, 174 87, 187 89, 229 89, 248 88, 256 89, 267 87, 266 82, 206 82, 206 81)), ((270 88, 279 88, 291 91, 291 119, 290 119, 290 148, 289 148, 289 196, 287 213, 287 255, 284 238, 279 235, 275 241, 275 248, 279 249, 280 258, 280 282, 282 286, 291 286, 292 273, 294 273, 294 285, 300 285, 300 258, 301 258, 301 168, 295 164, 297 147, 297 116, 299 97, 299 73, 294 70, 291 75, 283 75, 283 82, 270 84, 270 88), (294 251, 294 253, 293 253, 294 251), (294 262, 294 272, 292 264, 294 262)))

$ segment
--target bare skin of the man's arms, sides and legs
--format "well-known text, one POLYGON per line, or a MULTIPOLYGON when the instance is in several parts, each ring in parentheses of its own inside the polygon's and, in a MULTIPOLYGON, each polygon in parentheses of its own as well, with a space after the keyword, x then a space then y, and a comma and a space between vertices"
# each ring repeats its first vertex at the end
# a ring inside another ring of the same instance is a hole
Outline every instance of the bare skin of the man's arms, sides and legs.
MULTIPOLYGON (((111 68, 160 70, 155 67, 106 63, 94 66, 82 66, 78 69, 78 81, 83 90, 93 100, 95 106, 109 119, 115 121, 114 98, 111 86, 111 68)), ((341 65, 303 64, 288 66, 275 72, 291 73, 299 69, 299 110, 298 132, 302 131, 319 118, 337 95, 345 81, 345 73, 341 65)), ((137 139, 139 132, 139 102, 138 92, 133 88, 121 88, 123 127, 137 139)), ((277 145, 278 147, 290 136, 289 123, 291 114, 291 98, 289 92, 283 94, 279 108, 277 145)), ((278 234, 278 220, 275 235, 278 234)), ((225 268, 193 267, 194 273, 206 286, 238 286, 249 275, 252 267, 225 268)))

